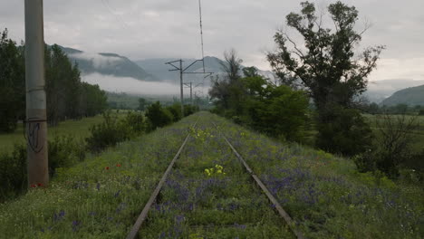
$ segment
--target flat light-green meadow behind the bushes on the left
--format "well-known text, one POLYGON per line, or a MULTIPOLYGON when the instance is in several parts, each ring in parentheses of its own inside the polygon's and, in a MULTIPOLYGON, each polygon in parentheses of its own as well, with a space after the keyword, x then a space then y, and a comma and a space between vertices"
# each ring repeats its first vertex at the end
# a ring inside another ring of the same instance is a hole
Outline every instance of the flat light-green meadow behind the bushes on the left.
MULTIPOLYGON (((116 111, 115 111, 116 112, 116 111)), ((119 115, 123 116, 126 110, 120 110, 119 115)), ((82 118, 79 120, 66 120, 60 122, 58 126, 48 127, 48 139, 54 139, 56 136, 69 135, 75 139, 85 139, 90 136, 90 127, 94 124, 101 123, 101 115, 89 118, 82 118)), ((14 144, 24 144, 24 126, 19 124, 14 133, 0 134, 0 151, 10 152, 14 148, 14 144)))

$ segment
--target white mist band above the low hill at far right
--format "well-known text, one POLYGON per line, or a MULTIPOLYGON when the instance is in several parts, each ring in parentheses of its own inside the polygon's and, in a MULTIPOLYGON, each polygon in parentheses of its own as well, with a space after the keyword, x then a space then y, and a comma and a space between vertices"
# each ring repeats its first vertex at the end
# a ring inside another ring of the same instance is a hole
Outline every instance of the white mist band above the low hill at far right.
POLYGON ((367 97, 371 102, 381 103, 396 91, 422 84, 424 84, 424 81, 413 81, 407 79, 370 81, 368 83, 368 91, 366 91, 363 96, 367 97))

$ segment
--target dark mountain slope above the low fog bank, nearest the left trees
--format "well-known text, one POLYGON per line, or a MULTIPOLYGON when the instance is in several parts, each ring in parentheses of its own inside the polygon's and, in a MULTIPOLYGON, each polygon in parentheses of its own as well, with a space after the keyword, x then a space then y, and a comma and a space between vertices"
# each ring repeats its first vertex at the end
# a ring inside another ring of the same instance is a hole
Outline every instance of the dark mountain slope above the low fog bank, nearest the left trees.
POLYGON ((140 81, 159 81, 144 71, 138 64, 116 53, 84 53, 80 50, 61 46, 71 62, 78 63, 82 75, 99 73, 116 77, 130 77, 140 81))

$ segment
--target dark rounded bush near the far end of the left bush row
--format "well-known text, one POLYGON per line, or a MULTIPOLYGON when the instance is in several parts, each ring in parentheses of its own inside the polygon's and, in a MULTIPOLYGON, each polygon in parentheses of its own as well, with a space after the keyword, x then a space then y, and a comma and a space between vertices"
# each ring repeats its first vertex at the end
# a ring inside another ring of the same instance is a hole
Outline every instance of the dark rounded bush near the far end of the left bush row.
POLYGON ((174 120, 172 113, 162 108, 159 101, 148 107, 146 117, 149 119, 149 130, 167 126, 174 120))

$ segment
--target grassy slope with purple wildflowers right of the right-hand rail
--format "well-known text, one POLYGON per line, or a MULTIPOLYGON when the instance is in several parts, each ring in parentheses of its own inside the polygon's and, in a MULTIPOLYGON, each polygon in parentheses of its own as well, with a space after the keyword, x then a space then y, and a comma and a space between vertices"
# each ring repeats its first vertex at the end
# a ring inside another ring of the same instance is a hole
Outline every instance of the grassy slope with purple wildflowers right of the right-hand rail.
POLYGON ((215 119, 307 238, 423 237, 423 187, 361 174, 347 158, 215 119))

